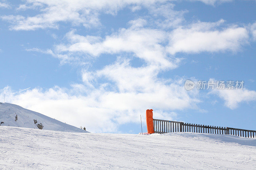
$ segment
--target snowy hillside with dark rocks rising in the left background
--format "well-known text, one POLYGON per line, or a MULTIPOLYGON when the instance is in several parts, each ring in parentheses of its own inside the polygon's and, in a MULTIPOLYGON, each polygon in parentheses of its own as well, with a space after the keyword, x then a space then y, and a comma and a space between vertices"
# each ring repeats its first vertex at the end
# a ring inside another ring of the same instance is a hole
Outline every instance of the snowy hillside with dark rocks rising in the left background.
POLYGON ((10 103, 0 104, 0 123, 1 126, 15 126, 35 129, 43 128, 45 130, 56 130, 63 132, 87 132, 75 126, 71 126, 48 116, 10 103))

